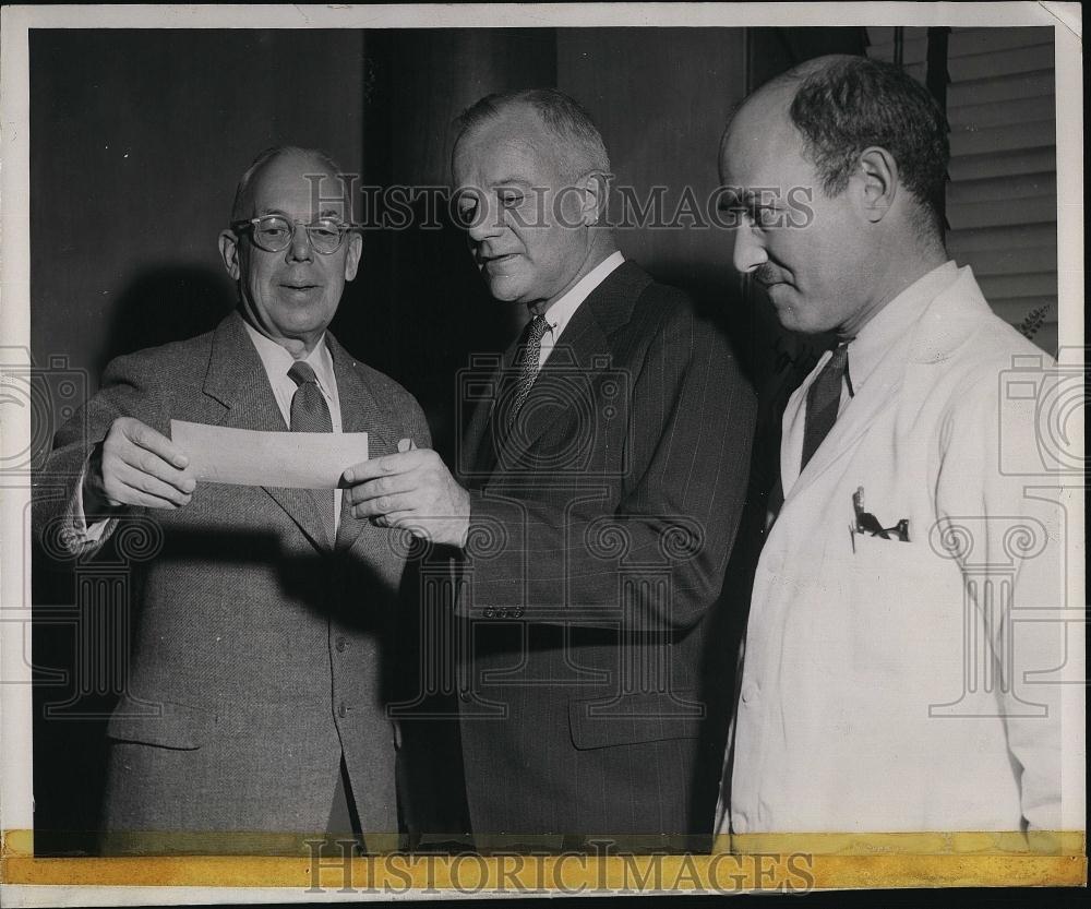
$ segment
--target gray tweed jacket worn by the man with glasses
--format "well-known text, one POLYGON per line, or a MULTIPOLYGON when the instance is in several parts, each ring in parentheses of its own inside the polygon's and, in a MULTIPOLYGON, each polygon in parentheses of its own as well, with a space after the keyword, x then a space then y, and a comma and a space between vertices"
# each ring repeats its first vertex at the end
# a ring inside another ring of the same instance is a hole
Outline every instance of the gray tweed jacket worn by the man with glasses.
MULTIPOLYGON (((327 343, 345 432, 367 431, 372 456, 403 436, 429 445, 417 402, 328 334, 327 343)), ((36 530, 63 519, 89 446, 119 416, 164 433, 171 418, 287 430, 238 314, 119 358, 58 433, 37 477, 36 530), (57 486, 64 499, 45 494, 57 486)), ((309 490, 217 483, 199 485, 178 511, 132 510, 115 534, 127 522, 156 528, 161 546, 132 569, 127 693, 109 725, 108 848, 196 841, 212 852, 298 854, 300 836, 325 829, 343 751, 365 834, 394 834, 385 701, 398 531, 346 514, 335 545, 309 490), (180 834, 189 838, 172 839, 180 834)))

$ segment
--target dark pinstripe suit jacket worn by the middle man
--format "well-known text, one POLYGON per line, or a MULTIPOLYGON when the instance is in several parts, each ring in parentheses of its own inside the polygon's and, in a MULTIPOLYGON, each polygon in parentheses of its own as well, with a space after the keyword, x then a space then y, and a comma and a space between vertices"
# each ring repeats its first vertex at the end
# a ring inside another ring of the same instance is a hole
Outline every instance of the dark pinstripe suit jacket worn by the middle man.
POLYGON ((694 804, 704 619, 754 416, 720 333, 632 262, 577 310, 511 433, 475 414, 459 711, 482 842, 710 829, 715 792, 694 804))

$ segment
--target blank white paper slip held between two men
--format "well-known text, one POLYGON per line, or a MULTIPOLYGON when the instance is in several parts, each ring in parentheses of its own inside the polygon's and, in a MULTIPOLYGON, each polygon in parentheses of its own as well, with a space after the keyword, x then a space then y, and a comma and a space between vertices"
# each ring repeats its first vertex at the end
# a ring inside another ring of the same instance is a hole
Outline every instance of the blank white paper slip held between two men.
POLYGON ((237 486, 335 489, 368 459, 367 432, 259 432, 170 421, 170 439, 197 480, 237 486))

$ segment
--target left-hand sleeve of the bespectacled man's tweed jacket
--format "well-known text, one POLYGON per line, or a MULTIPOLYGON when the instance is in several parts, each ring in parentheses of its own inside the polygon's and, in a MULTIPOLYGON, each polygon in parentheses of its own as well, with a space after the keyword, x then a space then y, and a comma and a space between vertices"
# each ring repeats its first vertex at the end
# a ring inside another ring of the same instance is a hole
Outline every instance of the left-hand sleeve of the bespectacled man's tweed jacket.
POLYGON ((58 430, 53 448, 35 476, 34 530, 47 551, 86 555, 109 539, 119 517, 107 521, 100 533, 81 533, 85 525, 80 489, 92 451, 119 417, 134 417, 165 432, 165 414, 157 370, 146 357, 119 357, 110 362, 101 388, 58 430))

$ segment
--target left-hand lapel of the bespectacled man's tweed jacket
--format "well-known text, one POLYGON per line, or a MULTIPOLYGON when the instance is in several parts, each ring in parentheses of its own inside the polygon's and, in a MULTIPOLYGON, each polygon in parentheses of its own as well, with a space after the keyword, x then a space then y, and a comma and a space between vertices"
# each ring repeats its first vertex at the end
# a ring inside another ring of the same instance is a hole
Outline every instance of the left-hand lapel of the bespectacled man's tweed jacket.
MULTIPOLYGON (((220 426, 262 432, 288 431, 265 367, 237 312, 225 319, 216 330, 204 392, 227 408, 220 426)), ((315 547, 327 550, 333 546, 326 522, 311 490, 262 489, 284 509, 315 547)))

